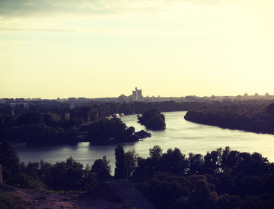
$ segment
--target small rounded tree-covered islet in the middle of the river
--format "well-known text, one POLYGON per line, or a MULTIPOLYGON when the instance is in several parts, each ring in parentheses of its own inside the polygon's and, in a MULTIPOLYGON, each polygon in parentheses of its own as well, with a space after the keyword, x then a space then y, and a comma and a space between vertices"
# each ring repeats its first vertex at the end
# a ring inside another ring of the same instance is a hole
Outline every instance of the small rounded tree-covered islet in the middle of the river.
POLYGON ((142 116, 137 115, 138 123, 145 125, 151 130, 165 129, 165 115, 159 109, 149 109, 144 111, 142 116))

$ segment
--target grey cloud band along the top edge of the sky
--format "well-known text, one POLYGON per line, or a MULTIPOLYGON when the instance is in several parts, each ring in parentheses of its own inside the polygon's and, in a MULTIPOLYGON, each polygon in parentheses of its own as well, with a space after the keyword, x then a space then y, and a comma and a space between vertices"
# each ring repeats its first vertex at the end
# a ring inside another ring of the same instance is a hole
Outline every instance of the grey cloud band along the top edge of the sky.
POLYGON ((151 13, 165 10, 181 2, 212 6, 224 1, 232 0, 0 0, 0 20, 22 17, 67 18, 151 13))

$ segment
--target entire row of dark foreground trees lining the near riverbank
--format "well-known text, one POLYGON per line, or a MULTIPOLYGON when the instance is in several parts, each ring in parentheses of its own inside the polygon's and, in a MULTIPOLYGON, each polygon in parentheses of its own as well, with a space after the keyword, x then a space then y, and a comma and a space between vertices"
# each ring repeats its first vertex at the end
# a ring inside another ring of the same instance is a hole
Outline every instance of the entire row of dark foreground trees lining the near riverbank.
POLYGON ((5 142, 0 163, 6 183, 25 188, 89 190, 105 180, 128 178, 156 208, 273 208, 274 164, 259 153, 241 153, 229 147, 206 155, 178 148, 162 152, 149 149, 149 157, 135 150, 115 149, 116 168, 102 157, 86 168, 70 157, 66 162, 20 163, 16 151, 5 142))

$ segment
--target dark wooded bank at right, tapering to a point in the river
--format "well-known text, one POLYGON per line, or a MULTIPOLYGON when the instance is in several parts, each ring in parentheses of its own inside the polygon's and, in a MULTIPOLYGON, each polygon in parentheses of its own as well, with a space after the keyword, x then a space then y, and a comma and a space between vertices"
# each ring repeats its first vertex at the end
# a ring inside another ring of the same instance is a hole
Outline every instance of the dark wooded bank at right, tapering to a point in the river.
POLYGON ((185 120, 218 127, 274 134, 274 103, 238 103, 190 110, 185 120))

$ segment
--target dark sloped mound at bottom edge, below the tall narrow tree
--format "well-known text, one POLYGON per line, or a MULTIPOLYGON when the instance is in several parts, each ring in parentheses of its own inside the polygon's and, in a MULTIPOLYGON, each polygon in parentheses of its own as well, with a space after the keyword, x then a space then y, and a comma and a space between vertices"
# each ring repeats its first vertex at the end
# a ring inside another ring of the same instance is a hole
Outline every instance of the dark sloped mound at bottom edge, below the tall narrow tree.
POLYGON ((153 203, 148 201, 143 194, 127 179, 112 180, 102 183, 91 190, 94 199, 105 199, 116 203, 116 208, 155 209, 153 203), (120 206, 120 207, 119 207, 120 206))

